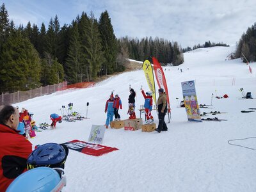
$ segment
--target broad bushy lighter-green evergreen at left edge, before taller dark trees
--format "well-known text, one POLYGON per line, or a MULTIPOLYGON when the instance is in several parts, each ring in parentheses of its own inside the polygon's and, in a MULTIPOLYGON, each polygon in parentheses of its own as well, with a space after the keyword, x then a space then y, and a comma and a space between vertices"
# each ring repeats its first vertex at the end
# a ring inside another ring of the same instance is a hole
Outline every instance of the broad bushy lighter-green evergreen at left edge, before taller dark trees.
POLYGON ((29 90, 40 86, 40 58, 28 38, 20 31, 3 44, 0 60, 1 92, 29 90))

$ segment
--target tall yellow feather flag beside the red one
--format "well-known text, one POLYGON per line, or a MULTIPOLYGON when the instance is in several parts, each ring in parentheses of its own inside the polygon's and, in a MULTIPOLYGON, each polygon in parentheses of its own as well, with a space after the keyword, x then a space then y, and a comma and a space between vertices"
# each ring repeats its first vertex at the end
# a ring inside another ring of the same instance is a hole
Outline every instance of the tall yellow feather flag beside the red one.
POLYGON ((143 70, 144 70, 144 73, 145 73, 145 77, 147 79, 148 88, 149 88, 150 92, 152 92, 152 97, 153 97, 154 102, 156 104, 156 87, 155 87, 152 65, 151 65, 150 61, 145 60, 143 62, 143 70))

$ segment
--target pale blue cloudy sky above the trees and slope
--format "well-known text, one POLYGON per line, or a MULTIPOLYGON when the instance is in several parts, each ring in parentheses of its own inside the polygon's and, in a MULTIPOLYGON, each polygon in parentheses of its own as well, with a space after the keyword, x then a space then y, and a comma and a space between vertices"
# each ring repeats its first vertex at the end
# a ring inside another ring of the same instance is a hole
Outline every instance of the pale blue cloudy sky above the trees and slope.
POLYGON ((234 45, 256 22, 255 0, 0 0, 15 25, 47 26, 58 15, 61 26, 92 11, 108 10, 116 37, 152 36, 177 41, 183 48, 205 41, 234 45))

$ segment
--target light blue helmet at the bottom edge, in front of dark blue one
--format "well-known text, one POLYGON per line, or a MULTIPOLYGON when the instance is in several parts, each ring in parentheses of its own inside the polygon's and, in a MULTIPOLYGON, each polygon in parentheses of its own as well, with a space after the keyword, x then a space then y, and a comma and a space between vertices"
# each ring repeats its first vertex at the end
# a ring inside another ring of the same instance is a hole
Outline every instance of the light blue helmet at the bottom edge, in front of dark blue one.
POLYGON ((63 169, 38 167, 19 175, 6 192, 61 191, 66 184, 67 179, 63 169))

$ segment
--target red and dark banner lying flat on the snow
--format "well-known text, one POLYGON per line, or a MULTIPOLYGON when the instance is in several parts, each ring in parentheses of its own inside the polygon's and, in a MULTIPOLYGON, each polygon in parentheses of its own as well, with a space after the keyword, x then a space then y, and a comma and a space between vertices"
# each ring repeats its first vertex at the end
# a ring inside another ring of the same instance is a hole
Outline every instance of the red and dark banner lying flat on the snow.
POLYGON ((101 156, 103 154, 107 154, 114 150, 118 150, 118 148, 107 147, 104 145, 93 144, 93 143, 86 143, 84 141, 79 141, 79 140, 72 140, 63 144, 72 150, 76 150, 78 152, 81 152, 83 154, 87 154, 90 156, 101 156))

